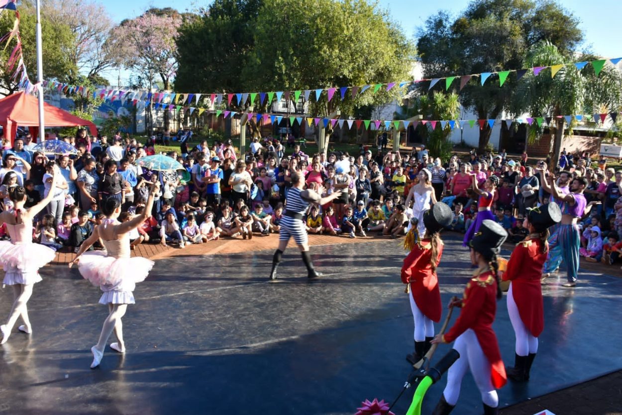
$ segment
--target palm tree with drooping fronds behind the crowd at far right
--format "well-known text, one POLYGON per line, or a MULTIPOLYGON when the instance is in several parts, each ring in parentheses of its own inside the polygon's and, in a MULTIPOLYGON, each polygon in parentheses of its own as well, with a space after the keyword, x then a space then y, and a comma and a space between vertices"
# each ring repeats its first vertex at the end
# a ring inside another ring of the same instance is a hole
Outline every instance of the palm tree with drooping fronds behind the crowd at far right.
MULTIPOLYGON (((515 115, 528 112, 535 116, 553 117, 549 128, 555 131, 552 148, 554 166, 559 162, 564 139, 564 116, 618 111, 622 105, 622 77, 616 68, 606 65, 596 76, 590 65, 582 70, 573 65, 573 62, 596 59, 587 54, 578 59, 577 56, 564 55, 550 42, 534 45, 525 59, 525 67, 563 65, 554 77, 550 77, 550 73, 525 75, 516 89, 511 107, 515 115)), ((537 128, 534 124, 532 132, 537 128)))

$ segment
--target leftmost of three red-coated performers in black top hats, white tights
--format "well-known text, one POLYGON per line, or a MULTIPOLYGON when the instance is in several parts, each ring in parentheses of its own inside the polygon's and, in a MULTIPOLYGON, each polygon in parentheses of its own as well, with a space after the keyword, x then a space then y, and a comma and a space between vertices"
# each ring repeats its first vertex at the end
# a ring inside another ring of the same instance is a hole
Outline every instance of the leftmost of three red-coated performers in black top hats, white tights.
POLYGON ((443 241, 439 231, 452 223, 452 210, 445 203, 435 203, 424 213, 425 238, 412 243, 411 253, 404 259, 402 282, 409 284, 412 316, 415 320, 415 352, 406 360, 414 365, 430 348, 434 338, 434 323, 439 322, 440 304, 439 280, 436 268, 443 254, 443 241))

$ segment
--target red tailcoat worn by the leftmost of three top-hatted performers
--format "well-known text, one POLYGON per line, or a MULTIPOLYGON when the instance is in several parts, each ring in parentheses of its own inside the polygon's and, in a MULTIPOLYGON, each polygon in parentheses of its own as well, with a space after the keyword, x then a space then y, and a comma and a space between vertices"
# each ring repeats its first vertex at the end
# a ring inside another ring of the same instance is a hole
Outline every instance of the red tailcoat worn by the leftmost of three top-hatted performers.
MULTIPOLYGON (((432 271, 432 242, 424 238, 412 246, 411 253, 404 259, 402 282, 411 284, 411 295, 419 310, 432 321, 439 322, 442 314, 440 304, 439 279, 432 271)), ((443 245, 439 245, 437 264, 443 255, 443 245)))

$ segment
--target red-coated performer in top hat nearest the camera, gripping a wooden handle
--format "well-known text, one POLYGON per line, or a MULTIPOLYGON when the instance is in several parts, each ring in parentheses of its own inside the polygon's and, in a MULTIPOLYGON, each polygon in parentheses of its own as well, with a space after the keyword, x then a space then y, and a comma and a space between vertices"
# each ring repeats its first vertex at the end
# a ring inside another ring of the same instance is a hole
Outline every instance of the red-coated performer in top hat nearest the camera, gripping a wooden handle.
POLYGON ((467 370, 480 389, 484 414, 497 414, 499 398, 496 389, 506 383, 506 373, 499 343, 493 331, 497 301, 501 298, 497 275, 499 247, 508 237, 503 226, 485 220, 473 236, 470 245, 479 266, 471 281, 466 284, 462 299, 454 297, 449 307, 462 307, 460 317, 445 335, 436 335, 432 343, 453 343, 460 358, 447 373, 447 386, 434 414, 450 413, 458 402, 460 384, 467 370))

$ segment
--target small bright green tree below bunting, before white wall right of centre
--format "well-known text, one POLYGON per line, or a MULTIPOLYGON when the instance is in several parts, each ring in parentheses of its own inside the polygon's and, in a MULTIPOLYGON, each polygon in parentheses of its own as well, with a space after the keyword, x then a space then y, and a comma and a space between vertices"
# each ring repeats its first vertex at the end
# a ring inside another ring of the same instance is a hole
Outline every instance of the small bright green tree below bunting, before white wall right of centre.
MULTIPOLYGON (((401 111, 396 113, 397 118, 408 119, 415 115, 422 115, 429 120, 455 120, 460 111, 460 100, 457 93, 442 93, 435 91, 432 96, 417 96, 408 106, 402 106, 401 111)), ((417 131, 426 139, 427 149, 430 157, 440 157, 448 159, 452 153, 452 142, 448 139, 452 133, 452 128, 448 124, 437 125, 435 128, 431 124, 417 125, 417 131)))

